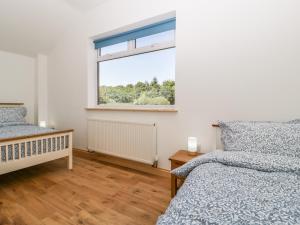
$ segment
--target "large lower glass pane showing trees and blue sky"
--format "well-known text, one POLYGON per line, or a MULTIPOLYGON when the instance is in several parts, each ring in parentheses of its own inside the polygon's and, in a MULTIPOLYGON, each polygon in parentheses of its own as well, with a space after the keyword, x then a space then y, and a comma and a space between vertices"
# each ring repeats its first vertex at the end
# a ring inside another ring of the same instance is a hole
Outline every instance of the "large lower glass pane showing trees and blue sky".
POLYGON ((99 103, 175 104, 175 48, 99 63, 99 103))

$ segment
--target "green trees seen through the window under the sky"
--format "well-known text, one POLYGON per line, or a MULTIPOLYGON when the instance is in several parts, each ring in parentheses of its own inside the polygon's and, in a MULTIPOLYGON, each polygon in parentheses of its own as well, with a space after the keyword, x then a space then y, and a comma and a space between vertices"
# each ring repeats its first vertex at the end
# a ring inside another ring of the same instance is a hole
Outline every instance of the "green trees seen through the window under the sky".
POLYGON ((100 104, 124 103, 135 105, 174 105, 175 81, 159 84, 154 77, 149 83, 137 82, 126 86, 100 86, 100 104))

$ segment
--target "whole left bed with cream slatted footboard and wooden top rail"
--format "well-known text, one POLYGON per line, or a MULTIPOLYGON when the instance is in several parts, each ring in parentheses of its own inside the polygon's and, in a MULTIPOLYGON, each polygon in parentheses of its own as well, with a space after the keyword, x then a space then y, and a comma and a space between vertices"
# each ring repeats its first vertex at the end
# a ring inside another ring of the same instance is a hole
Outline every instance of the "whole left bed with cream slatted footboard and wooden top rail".
POLYGON ((0 103, 0 174, 68 157, 72 169, 73 130, 26 123, 23 104, 0 103))

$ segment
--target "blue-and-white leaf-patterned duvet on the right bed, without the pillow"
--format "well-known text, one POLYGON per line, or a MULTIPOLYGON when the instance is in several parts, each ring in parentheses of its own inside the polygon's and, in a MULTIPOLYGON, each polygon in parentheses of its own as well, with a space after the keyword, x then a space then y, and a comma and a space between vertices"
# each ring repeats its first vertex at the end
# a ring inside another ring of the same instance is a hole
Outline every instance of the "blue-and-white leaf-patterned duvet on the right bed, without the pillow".
POLYGON ((158 225, 300 224, 300 159, 215 151, 172 173, 187 176, 158 225))

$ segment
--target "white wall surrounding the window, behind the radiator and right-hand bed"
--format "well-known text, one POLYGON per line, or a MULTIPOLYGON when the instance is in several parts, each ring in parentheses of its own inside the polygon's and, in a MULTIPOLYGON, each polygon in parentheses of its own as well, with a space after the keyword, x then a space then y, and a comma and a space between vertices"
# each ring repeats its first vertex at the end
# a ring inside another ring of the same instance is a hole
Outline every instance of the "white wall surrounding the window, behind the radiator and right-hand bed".
POLYGON ((111 0, 94 9, 49 54, 49 119, 75 128, 86 148, 86 119, 158 124, 159 167, 196 136, 214 144, 216 120, 300 117, 300 17, 297 0, 111 0), (176 10, 178 113, 86 112, 93 66, 89 38, 176 10))

